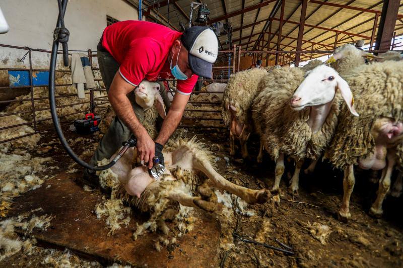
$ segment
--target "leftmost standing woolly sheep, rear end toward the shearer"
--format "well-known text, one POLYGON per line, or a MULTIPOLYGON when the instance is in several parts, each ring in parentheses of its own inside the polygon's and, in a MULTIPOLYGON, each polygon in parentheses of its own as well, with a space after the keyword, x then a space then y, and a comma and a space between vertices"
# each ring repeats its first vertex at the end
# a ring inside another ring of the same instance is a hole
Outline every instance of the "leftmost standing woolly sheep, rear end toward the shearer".
POLYGON ((235 138, 239 139, 242 157, 248 157, 246 142, 253 131, 251 103, 259 93, 259 81, 267 74, 266 70, 253 68, 231 75, 225 88, 222 116, 230 128, 230 154, 235 154, 235 138))

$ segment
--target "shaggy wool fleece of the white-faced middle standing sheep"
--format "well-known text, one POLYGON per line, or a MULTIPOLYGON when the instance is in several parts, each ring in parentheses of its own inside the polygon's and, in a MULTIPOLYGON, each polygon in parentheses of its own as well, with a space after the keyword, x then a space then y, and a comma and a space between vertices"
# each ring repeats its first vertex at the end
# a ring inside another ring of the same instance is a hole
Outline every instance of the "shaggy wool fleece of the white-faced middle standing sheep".
POLYGON ((317 60, 303 68, 273 70, 259 85, 262 90, 252 105, 252 118, 264 147, 275 160, 279 152, 297 159, 316 159, 333 136, 342 102, 340 93, 335 95, 330 112, 317 133, 312 133, 307 124, 310 108, 295 111, 289 105, 305 72, 320 64, 317 60))

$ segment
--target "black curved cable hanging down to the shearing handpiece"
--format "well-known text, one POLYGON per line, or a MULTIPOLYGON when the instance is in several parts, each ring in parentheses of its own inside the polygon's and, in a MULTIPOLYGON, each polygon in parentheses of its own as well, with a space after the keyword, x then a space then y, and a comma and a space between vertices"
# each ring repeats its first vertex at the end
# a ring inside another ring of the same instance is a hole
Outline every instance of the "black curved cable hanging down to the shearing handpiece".
POLYGON ((56 24, 56 29, 54 31, 54 40, 53 40, 53 46, 52 46, 52 53, 50 56, 50 67, 49 67, 49 103, 50 103, 50 113, 52 115, 52 120, 53 120, 53 125, 56 130, 56 134, 60 140, 60 143, 63 145, 64 149, 66 152, 70 155, 70 157, 73 158, 77 163, 80 165, 92 169, 92 170, 104 170, 108 169, 111 166, 113 166, 123 155, 123 153, 126 152, 126 150, 129 147, 136 146, 136 138, 131 136, 130 139, 123 143, 123 147, 117 154, 117 156, 108 164, 103 165, 103 166, 93 166, 90 165, 83 160, 80 159, 79 156, 75 154, 75 152, 70 148, 69 143, 66 141, 63 131, 60 126, 59 118, 57 116, 57 110, 56 110, 56 101, 55 101, 55 94, 54 94, 54 81, 55 81, 55 68, 56 68, 56 59, 57 59, 57 48, 59 46, 59 42, 62 42, 63 44, 63 59, 64 59, 64 66, 69 65, 69 61, 65 61, 65 59, 69 59, 69 54, 67 49, 67 41, 69 40, 69 36, 65 37, 65 34, 69 33, 67 29, 64 28, 64 13, 67 7, 68 0, 57 0, 57 3, 59 5, 59 16, 57 18, 57 24, 56 24), (67 31, 60 31, 61 28, 64 28, 67 31), (63 43, 64 42, 64 43, 63 43))

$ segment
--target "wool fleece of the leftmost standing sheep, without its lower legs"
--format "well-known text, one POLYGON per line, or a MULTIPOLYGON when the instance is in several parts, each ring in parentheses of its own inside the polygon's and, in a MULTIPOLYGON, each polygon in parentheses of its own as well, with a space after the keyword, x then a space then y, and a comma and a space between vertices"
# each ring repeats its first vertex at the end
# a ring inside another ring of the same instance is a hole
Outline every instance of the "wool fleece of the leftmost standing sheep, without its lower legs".
POLYGON ((236 117, 242 124, 251 125, 251 103, 258 94, 258 83, 267 74, 266 70, 253 68, 231 75, 225 88, 222 116, 226 125, 230 124, 230 115, 226 107, 236 107, 236 117))

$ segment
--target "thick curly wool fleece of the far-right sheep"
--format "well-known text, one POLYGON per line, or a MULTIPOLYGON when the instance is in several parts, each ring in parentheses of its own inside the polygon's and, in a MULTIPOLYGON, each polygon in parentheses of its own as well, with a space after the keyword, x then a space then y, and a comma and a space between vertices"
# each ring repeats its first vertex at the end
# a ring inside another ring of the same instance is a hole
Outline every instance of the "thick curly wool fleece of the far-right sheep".
MULTIPOLYGON (((385 61, 355 68, 345 76, 359 117, 350 114, 346 105, 340 113, 334 139, 325 156, 337 168, 357 164, 374 152, 371 128, 379 117, 403 119, 403 61, 385 61)), ((401 149, 401 146, 398 146, 401 149)), ((400 152, 398 155, 403 155, 400 152)), ((400 163, 403 162, 401 157, 400 163)))

